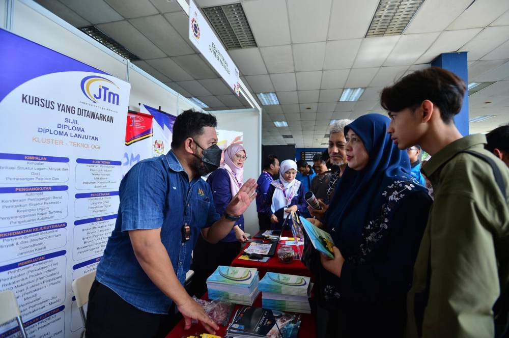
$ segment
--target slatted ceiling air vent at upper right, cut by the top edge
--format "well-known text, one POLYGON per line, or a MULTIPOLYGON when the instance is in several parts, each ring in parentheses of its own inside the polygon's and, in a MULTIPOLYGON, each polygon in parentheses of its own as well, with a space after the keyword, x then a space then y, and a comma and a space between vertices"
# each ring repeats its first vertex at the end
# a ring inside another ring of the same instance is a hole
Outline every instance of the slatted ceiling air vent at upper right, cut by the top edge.
POLYGON ((400 35, 424 0, 381 0, 366 38, 400 35))

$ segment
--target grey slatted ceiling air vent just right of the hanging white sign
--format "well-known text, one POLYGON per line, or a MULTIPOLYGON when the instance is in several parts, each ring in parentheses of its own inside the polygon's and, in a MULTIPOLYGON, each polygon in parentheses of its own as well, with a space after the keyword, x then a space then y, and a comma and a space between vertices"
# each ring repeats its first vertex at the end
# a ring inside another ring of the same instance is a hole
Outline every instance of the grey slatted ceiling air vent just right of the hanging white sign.
POLYGON ((258 47, 240 3, 202 8, 226 49, 258 47))

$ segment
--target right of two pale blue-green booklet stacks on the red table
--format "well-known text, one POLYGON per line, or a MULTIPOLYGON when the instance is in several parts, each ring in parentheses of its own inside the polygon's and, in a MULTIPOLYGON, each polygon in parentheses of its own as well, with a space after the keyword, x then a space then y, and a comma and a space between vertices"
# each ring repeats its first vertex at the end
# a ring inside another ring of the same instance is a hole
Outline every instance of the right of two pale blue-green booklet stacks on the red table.
POLYGON ((312 285, 309 284, 309 277, 267 272, 258 288, 262 291, 264 308, 311 313, 308 298, 312 285))

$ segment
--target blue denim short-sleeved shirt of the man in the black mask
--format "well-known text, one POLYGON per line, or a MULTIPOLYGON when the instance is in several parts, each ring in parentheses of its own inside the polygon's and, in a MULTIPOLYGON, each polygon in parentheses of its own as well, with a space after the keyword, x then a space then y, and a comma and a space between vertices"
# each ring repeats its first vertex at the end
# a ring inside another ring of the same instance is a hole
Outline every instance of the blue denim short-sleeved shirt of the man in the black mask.
POLYGON ((200 230, 220 218, 210 186, 200 177, 189 182, 179 160, 169 151, 134 165, 122 179, 119 195, 117 222, 97 266, 96 279, 142 311, 168 314, 172 300, 139 265, 128 231, 161 228, 161 242, 183 285, 200 230), (188 241, 182 240, 184 224, 191 228, 188 241))

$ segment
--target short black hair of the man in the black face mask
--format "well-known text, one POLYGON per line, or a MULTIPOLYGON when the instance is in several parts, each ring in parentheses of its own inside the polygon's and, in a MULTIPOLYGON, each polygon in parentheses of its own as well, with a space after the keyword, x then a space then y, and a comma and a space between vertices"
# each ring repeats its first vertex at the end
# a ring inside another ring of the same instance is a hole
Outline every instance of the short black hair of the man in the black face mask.
POLYGON ((184 110, 173 125, 172 149, 179 148, 188 137, 203 134, 203 127, 217 127, 217 119, 194 109, 184 110))

